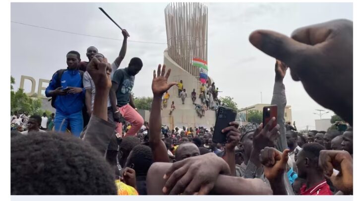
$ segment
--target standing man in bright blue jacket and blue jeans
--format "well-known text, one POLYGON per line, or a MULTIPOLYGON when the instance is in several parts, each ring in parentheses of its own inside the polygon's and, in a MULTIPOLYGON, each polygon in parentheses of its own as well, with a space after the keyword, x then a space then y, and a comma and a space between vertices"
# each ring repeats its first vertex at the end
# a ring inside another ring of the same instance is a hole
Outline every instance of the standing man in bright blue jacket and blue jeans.
POLYGON ((46 96, 54 99, 56 108, 55 131, 64 132, 69 126, 71 133, 79 137, 83 130, 82 108, 85 91, 83 88, 83 72, 78 70, 80 55, 76 51, 67 53, 67 69, 55 72, 46 96))

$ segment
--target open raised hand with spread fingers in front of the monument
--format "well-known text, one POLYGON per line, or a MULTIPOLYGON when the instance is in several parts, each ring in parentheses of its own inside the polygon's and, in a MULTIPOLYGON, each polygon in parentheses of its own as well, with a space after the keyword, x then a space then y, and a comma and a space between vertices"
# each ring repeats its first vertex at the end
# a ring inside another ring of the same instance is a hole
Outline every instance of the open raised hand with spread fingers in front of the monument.
POLYGON ((171 82, 170 84, 167 83, 167 80, 170 76, 171 69, 168 70, 168 72, 165 75, 165 68, 166 66, 164 65, 161 70, 161 64, 158 66, 157 70, 157 76, 156 76, 156 71, 154 70, 154 78, 151 84, 151 89, 153 91, 154 96, 160 96, 168 91, 172 86, 176 85, 176 82, 171 82))

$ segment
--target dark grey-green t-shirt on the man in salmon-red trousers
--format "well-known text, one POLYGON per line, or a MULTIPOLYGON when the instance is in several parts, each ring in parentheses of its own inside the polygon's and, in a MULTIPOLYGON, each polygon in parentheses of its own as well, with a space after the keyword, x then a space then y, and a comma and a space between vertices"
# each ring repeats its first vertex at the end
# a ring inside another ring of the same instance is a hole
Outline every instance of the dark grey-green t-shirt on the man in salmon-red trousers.
POLYGON ((127 67, 114 72, 112 81, 119 85, 116 91, 117 105, 122 107, 129 103, 129 95, 134 87, 135 76, 128 74, 127 67))

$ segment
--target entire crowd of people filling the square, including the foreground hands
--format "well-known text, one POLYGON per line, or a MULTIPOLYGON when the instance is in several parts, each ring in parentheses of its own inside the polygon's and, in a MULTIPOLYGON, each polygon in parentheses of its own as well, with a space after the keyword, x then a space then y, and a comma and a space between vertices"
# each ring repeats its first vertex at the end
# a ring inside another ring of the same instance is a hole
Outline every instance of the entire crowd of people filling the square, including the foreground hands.
POLYGON ((11 132, 11 195, 352 195, 352 30, 351 21, 333 20, 297 29, 291 38, 253 32, 249 41, 276 58, 271 104, 278 114, 264 127, 229 123, 220 131, 225 144, 212 140, 214 128, 162 125, 163 96, 175 85, 185 92, 181 81, 168 83, 165 65, 153 71, 151 113, 143 121, 131 97, 143 63, 132 58, 119 68, 125 30, 113 64, 95 47, 87 49, 85 63, 69 51, 67 69, 46 89, 56 108, 55 131, 41 130, 43 118, 33 115, 26 134, 11 132), (298 134, 295 124, 285 124, 288 67, 348 128, 298 134))

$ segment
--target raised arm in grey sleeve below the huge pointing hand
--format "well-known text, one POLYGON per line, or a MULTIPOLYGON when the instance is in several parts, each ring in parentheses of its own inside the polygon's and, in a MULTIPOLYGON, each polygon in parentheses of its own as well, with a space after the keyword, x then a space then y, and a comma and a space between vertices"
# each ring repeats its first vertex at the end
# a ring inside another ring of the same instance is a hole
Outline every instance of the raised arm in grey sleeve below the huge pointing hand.
POLYGON ((283 151, 288 147, 286 141, 286 129, 285 129, 285 106, 287 104, 286 96, 285 96, 285 86, 283 84, 283 79, 286 74, 287 66, 279 61, 276 60, 275 62, 275 83, 274 83, 274 90, 273 90, 273 98, 271 101, 272 105, 278 106, 278 117, 277 123, 280 125, 280 136, 277 141, 277 149, 279 151, 283 151))

